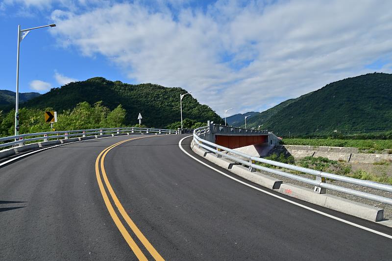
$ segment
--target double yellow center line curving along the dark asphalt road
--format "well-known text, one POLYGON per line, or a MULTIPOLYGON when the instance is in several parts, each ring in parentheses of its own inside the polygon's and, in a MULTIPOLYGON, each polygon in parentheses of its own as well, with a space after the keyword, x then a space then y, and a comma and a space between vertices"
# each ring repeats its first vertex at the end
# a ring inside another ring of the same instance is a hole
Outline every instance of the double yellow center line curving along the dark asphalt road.
POLYGON ((136 257, 139 260, 147 260, 146 256, 140 250, 140 248, 136 244, 135 240, 133 240, 133 238, 129 235, 128 231, 126 230, 125 226, 123 225, 123 222, 120 220, 119 216, 117 215, 116 211, 114 210, 113 205, 109 200, 109 196, 106 193, 106 190, 103 186, 100 171, 99 171, 99 166, 100 166, 103 181, 105 182, 107 190, 109 191, 109 194, 110 194, 113 202, 115 203, 120 214, 123 216, 125 222, 128 224, 129 228, 133 231, 133 233, 136 235, 136 237, 139 238, 139 240, 142 242, 142 244, 146 247, 147 251, 151 254, 151 256, 155 260, 162 260, 163 261, 164 259, 161 257, 161 255, 159 255, 159 253, 155 250, 155 248, 151 245, 151 243, 147 240, 147 238, 143 235, 143 233, 139 230, 139 228, 135 225, 135 223, 132 221, 132 219, 129 217, 129 215, 124 210, 123 205, 121 205, 116 193, 114 192, 112 186, 109 183, 109 180, 107 178, 106 171, 105 171, 105 166, 103 164, 103 162, 105 160, 105 156, 107 155, 107 153, 111 149, 113 149, 114 147, 116 147, 120 144, 123 144, 124 142, 129 142, 132 140, 137 140, 137 139, 142 139, 142 138, 147 138, 147 137, 133 138, 133 139, 125 140, 122 142, 117 142, 116 144, 113 144, 113 145, 105 148, 104 150, 102 150, 101 153, 99 153, 98 158, 95 163, 95 172, 97 175, 99 190, 102 193, 103 201, 105 202, 106 208, 108 209, 109 214, 111 215, 114 223, 116 224, 116 226, 120 230, 121 234, 123 235, 125 241, 128 243, 128 245, 132 249, 133 253, 135 253, 136 257))

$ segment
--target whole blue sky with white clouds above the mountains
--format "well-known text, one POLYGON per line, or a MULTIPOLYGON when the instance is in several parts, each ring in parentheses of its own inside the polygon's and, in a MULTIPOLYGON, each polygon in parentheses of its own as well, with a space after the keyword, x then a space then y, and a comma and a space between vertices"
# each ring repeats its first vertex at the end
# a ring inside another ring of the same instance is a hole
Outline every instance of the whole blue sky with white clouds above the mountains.
POLYGON ((192 91, 218 114, 263 111, 347 77, 392 72, 392 1, 0 0, 0 89, 103 76, 192 91))

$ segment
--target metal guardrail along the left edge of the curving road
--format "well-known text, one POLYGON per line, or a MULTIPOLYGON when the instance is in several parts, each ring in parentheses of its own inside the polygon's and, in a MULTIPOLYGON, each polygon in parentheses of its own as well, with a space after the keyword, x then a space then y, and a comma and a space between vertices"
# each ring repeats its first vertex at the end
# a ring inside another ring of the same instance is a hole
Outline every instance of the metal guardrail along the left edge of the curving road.
POLYGON ((121 133, 145 133, 145 134, 177 134, 176 130, 168 129, 154 129, 154 128, 101 128, 101 129, 87 129, 87 130, 70 130, 70 131, 51 131, 39 133, 27 133, 17 136, 9 136, 0 138, 0 148, 10 147, 14 145, 23 146, 25 142, 44 141, 48 142, 49 139, 65 140, 72 137, 87 137, 94 135, 104 134, 121 134, 121 133), (10 142, 11 141, 11 142, 10 142))

